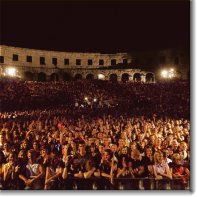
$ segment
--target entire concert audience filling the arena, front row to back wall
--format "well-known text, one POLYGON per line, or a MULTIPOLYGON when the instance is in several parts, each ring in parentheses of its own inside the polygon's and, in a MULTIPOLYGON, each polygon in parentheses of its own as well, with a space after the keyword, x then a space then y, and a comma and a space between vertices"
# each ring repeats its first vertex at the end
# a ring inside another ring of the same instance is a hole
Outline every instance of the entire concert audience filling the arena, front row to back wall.
POLYGON ((1 189, 189 188, 188 83, 1 81, 0 90, 1 189))

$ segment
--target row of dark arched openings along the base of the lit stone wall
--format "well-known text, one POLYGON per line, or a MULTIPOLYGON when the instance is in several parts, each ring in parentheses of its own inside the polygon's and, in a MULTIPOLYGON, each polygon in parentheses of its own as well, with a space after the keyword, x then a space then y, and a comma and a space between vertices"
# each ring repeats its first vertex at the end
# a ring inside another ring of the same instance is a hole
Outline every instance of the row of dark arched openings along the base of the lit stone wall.
MULTIPOLYGON (((103 74, 99 74, 99 75, 102 75, 102 79, 105 79, 105 75, 103 75, 103 74)), ((93 80, 96 78, 99 78, 99 77, 98 76, 95 77, 93 74, 86 75, 86 79, 88 79, 88 80, 93 80)), ((34 73, 27 71, 27 72, 25 72, 25 79, 28 81, 38 80, 40 82, 44 82, 44 81, 48 81, 48 80, 49 81, 59 81, 60 76, 57 73, 52 73, 49 76, 49 78, 47 78, 47 76, 44 72, 40 72, 40 73, 38 73, 37 76, 35 76, 34 73)), ((64 81, 81 80, 81 79, 83 79, 83 76, 81 74, 75 74, 74 77, 72 77, 69 73, 63 73, 62 79, 64 81)), ((122 76, 121 76, 122 82, 129 81, 129 79, 130 79, 130 75, 128 73, 122 74, 122 76)), ((118 81, 118 75, 117 74, 110 74, 109 80, 113 81, 113 82, 118 81)), ((133 81, 140 82, 141 80, 142 80, 142 75, 140 73, 135 73, 133 75, 133 81)), ((146 82, 154 82, 153 73, 147 73, 145 76, 145 80, 146 80, 146 82)))

